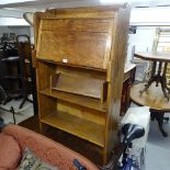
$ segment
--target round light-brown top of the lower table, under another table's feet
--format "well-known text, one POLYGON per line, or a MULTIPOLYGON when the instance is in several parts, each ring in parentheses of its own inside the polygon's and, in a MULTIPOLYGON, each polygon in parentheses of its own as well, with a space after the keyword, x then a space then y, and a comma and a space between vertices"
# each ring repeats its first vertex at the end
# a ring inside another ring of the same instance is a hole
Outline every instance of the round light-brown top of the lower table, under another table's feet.
POLYGON ((152 83, 148 90, 144 91, 143 94, 139 93, 140 90, 145 88, 145 83, 134 84, 131 88, 129 97, 132 101, 139 105, 150 106, 154 110, 160 110, 165 112, 170 111, 170 100, 163 95, 161 86, 156 87, 152 83))

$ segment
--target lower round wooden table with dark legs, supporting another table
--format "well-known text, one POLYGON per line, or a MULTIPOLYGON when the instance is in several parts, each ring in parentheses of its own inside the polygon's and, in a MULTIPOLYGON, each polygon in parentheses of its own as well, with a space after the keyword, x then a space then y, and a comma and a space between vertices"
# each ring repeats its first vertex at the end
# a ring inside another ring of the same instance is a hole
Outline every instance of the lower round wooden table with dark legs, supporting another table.
POLYGON ((150 107, 151 120, 156 118, 158 121, 160 132, 167 137, 168 134, 162 128, 162 123, 163 120, 169 121, 163 115, 166 112, 170 112, 170 101, 165 98, 160 86, 156 87, 156 83, 152 83, 149 89, 140 93, 143 87, 144 83, 134 84, 131 88, 129 97, 136 104, 150 107))

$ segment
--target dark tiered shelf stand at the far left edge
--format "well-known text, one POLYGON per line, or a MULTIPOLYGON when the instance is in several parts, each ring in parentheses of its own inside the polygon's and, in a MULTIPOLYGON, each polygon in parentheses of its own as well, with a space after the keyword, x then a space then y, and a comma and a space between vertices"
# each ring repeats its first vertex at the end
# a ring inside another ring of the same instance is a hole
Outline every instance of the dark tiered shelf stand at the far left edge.
POLYGON ((21 71, 16 43, 3 42, 1 53, 1 86, 9 99, 21 97, 21 71))

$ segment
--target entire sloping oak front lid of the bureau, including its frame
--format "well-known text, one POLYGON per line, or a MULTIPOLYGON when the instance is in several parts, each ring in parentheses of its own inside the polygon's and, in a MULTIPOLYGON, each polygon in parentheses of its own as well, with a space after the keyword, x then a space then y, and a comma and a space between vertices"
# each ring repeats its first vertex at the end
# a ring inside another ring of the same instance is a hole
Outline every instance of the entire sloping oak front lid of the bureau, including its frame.
POLYGON ((42 19, 36 58, 106 69, 113 20, 42 19))

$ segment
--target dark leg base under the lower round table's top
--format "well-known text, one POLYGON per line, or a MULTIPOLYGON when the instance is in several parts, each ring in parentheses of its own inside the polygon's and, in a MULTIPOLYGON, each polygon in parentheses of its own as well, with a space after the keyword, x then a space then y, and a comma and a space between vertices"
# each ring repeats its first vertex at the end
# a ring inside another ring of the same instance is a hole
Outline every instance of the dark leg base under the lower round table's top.
POLYGON ((150 111, 150 116, 151 116, 151 121, 154 121, 155 118, 157 120, 158 126, 162 136, 167 137, 168 133, 165 132, 162 124, 163 124, 163 120, 169 121, 169 117, 165 117, 165 112, 158 112, 158 111, 150 111))

